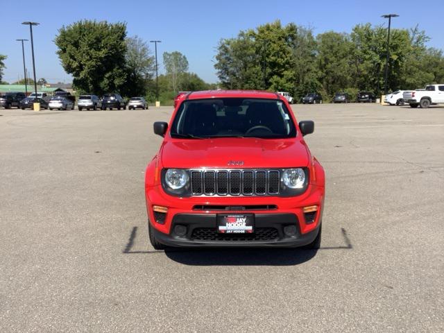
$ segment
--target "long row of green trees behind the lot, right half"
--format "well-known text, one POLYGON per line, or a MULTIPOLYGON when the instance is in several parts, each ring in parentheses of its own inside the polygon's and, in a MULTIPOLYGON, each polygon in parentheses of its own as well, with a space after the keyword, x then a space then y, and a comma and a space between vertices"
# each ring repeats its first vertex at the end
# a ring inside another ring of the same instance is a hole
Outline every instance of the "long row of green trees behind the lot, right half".
MULTIPOLYGON (((219 42, 214 65, 228 89, 287 91, 300 101, 320 92, 330 101, 336 92, 379 94, 384 90, 387 29, 358 24, 348 33, 316 36, 310 28, 279 21, 240 31, 219 42)), ((427 49, 427 35, 418 28, 392 29, 388 90, 415 89, 444 80, 444 55, 427 49)))

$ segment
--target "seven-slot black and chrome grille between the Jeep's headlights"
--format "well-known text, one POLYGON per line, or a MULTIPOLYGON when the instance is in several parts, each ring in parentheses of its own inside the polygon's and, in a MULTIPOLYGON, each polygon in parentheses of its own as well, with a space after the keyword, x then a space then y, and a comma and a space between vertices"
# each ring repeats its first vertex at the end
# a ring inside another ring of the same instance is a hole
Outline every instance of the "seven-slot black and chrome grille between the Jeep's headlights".
POLYGON ((194 196, 265 196, 279 194, 278 170, 191 170, 194 196))

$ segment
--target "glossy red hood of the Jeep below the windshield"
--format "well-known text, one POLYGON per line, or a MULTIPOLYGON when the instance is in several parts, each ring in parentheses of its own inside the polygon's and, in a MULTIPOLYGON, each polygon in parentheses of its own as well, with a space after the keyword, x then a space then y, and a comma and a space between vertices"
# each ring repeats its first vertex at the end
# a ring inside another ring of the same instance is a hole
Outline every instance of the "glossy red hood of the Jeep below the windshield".
POLYGON ((287 168, 309 164, 305 142, 294 138, 172 140, 162 144, 160 154, 164 168, 287 168), (244 164, 229 166, 230 161, 244 164))

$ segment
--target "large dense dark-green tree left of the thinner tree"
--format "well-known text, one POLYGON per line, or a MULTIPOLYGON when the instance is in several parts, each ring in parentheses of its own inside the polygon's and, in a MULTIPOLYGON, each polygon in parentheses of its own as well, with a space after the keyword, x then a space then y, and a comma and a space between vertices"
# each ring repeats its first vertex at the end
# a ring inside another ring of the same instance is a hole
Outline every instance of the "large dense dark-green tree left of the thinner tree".
POLYGON ((126 24, 83 20, 56 36, 63 68, 80 92, 114 92, 126 83, 126 24))

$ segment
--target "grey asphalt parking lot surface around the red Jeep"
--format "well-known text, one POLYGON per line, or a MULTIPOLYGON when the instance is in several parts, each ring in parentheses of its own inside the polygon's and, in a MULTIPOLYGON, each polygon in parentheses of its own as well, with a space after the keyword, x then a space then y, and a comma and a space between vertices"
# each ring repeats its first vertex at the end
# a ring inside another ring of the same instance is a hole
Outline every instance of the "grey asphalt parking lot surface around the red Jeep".
POLYGON ((171 108, 0 110, 0 332, 444 332, 444 108, 293 110, 327 175, 318 251, 153 250, 171 108))

